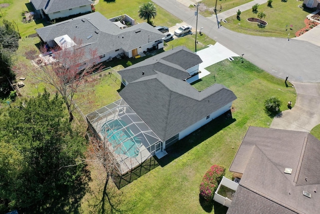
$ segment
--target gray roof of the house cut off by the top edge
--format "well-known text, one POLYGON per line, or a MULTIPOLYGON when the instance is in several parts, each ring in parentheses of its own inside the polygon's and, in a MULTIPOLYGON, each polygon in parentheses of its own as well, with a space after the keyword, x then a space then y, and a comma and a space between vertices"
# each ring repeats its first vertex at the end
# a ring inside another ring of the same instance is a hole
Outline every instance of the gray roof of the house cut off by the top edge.
POLYGON ((31 0, 31 2, 36 10, 43 9, 46 14, 93 4, 89 0, 31 0))

